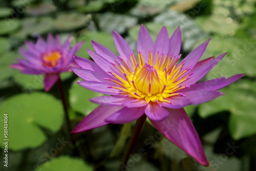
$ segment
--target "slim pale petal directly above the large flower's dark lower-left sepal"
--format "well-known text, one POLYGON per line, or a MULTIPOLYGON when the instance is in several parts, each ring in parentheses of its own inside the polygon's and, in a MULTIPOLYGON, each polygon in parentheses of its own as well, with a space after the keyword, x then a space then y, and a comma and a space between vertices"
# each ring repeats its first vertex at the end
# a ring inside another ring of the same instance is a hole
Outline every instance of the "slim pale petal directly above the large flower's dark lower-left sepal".
POLYGON ((123 102, 127 100, 132 100, 131 97, 123 96, 99 96, 92 99, 89 99, 93 103, 110 105, 110 106, 123 106, 123 102))

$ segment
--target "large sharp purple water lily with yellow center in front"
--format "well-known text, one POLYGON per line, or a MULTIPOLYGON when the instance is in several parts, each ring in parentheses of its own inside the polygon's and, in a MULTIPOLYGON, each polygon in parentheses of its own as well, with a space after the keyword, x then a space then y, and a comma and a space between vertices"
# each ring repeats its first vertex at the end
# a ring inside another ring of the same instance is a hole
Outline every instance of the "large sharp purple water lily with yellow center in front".
POLYGON ((81 68, 71 69, 84 79, 78 81, 80 86, 111 96, 90 99, 100 105, 75 127, 72 134, 109 123, 131 122, 145 114, 168 140, 200 164, 208 165, 197 131, 183 107, 223 95, 217 90, 243 74, 196 83, 226 53, 199 61, 208 39, 178 62, 181 57, 179 27, 170 38, 166 27, 163 27, 154 43, 142 25, 137 41, 137 58, 119 34, 113 32, 113 36, 119 55, 92 41, 96 52, 88 50, 88 53, 95 62, 74 56, 81 68))

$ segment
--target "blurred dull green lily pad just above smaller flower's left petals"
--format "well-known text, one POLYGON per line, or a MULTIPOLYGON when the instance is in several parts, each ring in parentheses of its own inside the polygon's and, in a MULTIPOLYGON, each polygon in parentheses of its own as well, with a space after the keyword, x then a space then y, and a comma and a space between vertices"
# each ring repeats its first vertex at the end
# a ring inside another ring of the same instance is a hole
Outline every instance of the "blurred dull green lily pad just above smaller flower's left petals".
POLYGON ((12 36, 19 39, 25 39, 29 35, 38 36, 50 32, 53 24, 51 17, 28 17, 22 20, 22 29, 12 36))

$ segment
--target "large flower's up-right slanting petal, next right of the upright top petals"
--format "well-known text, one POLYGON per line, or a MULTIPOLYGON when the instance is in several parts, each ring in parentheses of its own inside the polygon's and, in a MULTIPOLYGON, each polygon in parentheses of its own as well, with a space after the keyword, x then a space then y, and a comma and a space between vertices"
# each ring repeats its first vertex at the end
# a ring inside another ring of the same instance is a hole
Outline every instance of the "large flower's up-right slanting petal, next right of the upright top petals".
POLYGON ((182 61, 184 62, 185 61, 185 64, 183 65, 183 70, 184 71, 185 69, 187 68, 193 68, 196 63, 199 61, 199 59, 202 57, 207 45, 208 45, 208 42, 210 41, 210 38, 207 39, 205 42, 203 42, 203 44, 201 44, 200 46, 198 46, 194 51, 190 52, 182 61))

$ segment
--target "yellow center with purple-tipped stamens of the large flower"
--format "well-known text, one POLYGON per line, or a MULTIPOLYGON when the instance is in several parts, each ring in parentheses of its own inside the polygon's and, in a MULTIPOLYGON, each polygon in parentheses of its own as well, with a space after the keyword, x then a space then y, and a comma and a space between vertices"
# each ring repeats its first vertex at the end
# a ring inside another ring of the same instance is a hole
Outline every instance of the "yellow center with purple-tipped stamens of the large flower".
POLYGON ((156 62, 153 65, 153 52, 148 52, 148 63, 144 63, 142 54, 138 52, 138 60, 135 58, 134 54, 130 55, 134 71, 118 56, 125 67, 117 60, 116 62, 120 67, 115 63, 112 63, 112 65, 114 65, 122 75, 110 72, 111 75, 119 81, 108 78, 106 78, 106 80, 113 81, 122 88, 109 88, 118 89, 120 95, 126 97, 134 97, 137 99, 144 98, 147 103, 150 101, 171 103, 169 101, 170 97, 184 96, 177 91, 186 88, 186 86, 182 86, 181 84, 193 74, 185 74, 190 68, 182 70, 184 62, 177 65, 180 56, 181 55, 172 56, 172 54, 170 54, 163 57, 163 55, 157 54, 156 62))

